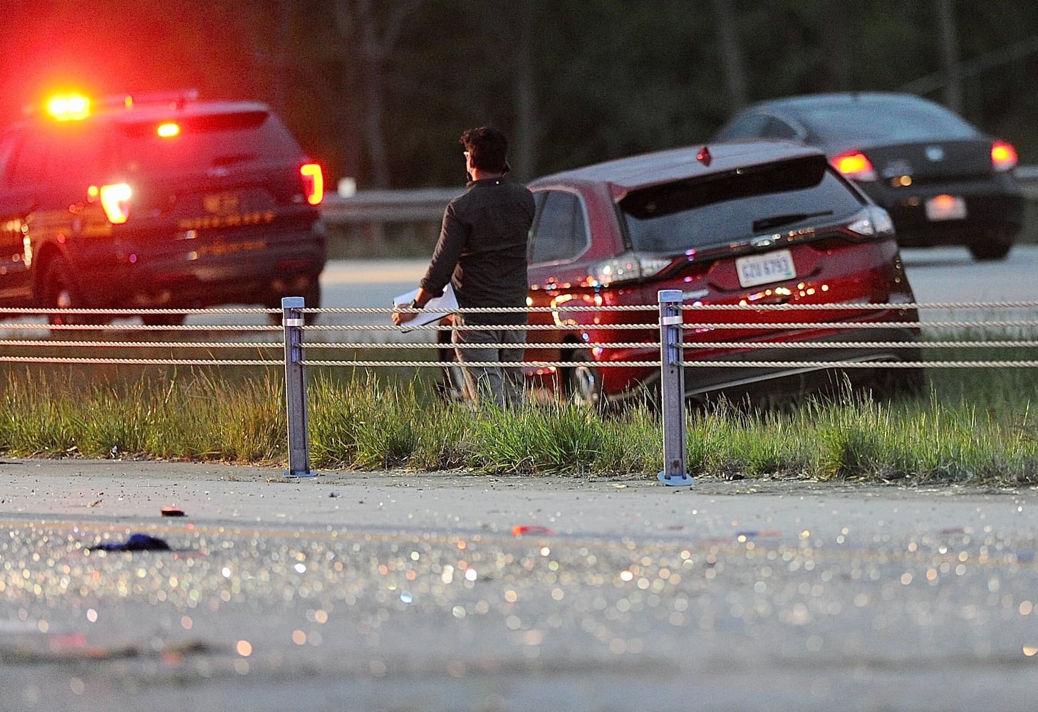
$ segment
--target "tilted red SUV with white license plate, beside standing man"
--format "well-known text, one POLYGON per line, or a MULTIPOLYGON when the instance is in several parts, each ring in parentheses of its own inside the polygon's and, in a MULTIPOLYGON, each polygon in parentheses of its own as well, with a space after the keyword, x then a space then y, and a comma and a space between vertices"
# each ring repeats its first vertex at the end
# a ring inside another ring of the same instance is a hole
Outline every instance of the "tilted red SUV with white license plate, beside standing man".
MULTIPOLYGON (((537 200, 529 246, 528 385, 586 405, 635 395, 659 378, 658 366, 607 366, 659 360, 649 311, 567 311, 567 306, 655 305, 660 290, 680 290, 690 304, 861 304, 812 311, 684 311, 685 323, 766 327, 685 331, 685 360, 918 360, 917 329, 865 328, 870 322, 916 323, 914 301, 885 211, 816 148, 787 141, 717 143, 600 163, 530 184, 537 200), (841 328, 795 323, 839 322, 841 328), (610 325, 618 328, 610 329, 610 325), (597 328, 586 328, 586 327, 597 328), (604 327, 604 328, 603 328, 604 327), (707 341, 822 341, 824 348, 756 350, 701 347, 707 341), (853 341, 893 346, 863 348, 853 341), (646 346, 610 346, 646 343, 646 346), (554 344, 599 345, 557 348, 554 344), (546 345, 546 346, 540 346, 546 345)), ((884 389, 921 383, 914 368, 848 368, 846 376, 884 389)), ((800 365, 689 367, 686 396, 723 392, 787 394, 832 382, 824 368, 800 365)))

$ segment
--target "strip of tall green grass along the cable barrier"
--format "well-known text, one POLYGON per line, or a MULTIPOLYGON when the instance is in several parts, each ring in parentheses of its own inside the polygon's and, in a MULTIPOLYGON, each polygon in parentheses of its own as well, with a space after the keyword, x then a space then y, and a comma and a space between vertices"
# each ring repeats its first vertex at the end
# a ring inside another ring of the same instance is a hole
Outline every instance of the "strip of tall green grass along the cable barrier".
MULTIPOLYGON (((0 453, 286 461, 276 372, 231 381, 218 373, 152 371, 100 384, 82 376, 8 372, 0 381, 0 453)), ((661 429, 643 408, 600 417, 531 406, 475 417, 439 403, 428 378, 311 376, 316 469, 650 477, 661 466, 661 429)), ((759 412, 721 405, 689 414, 687 465, 693 475, 728 477, 1038 484, 1036 385, 1036 369, 944 369, 930 372, 928 394, 894 404, 848 394, 759 412)))

